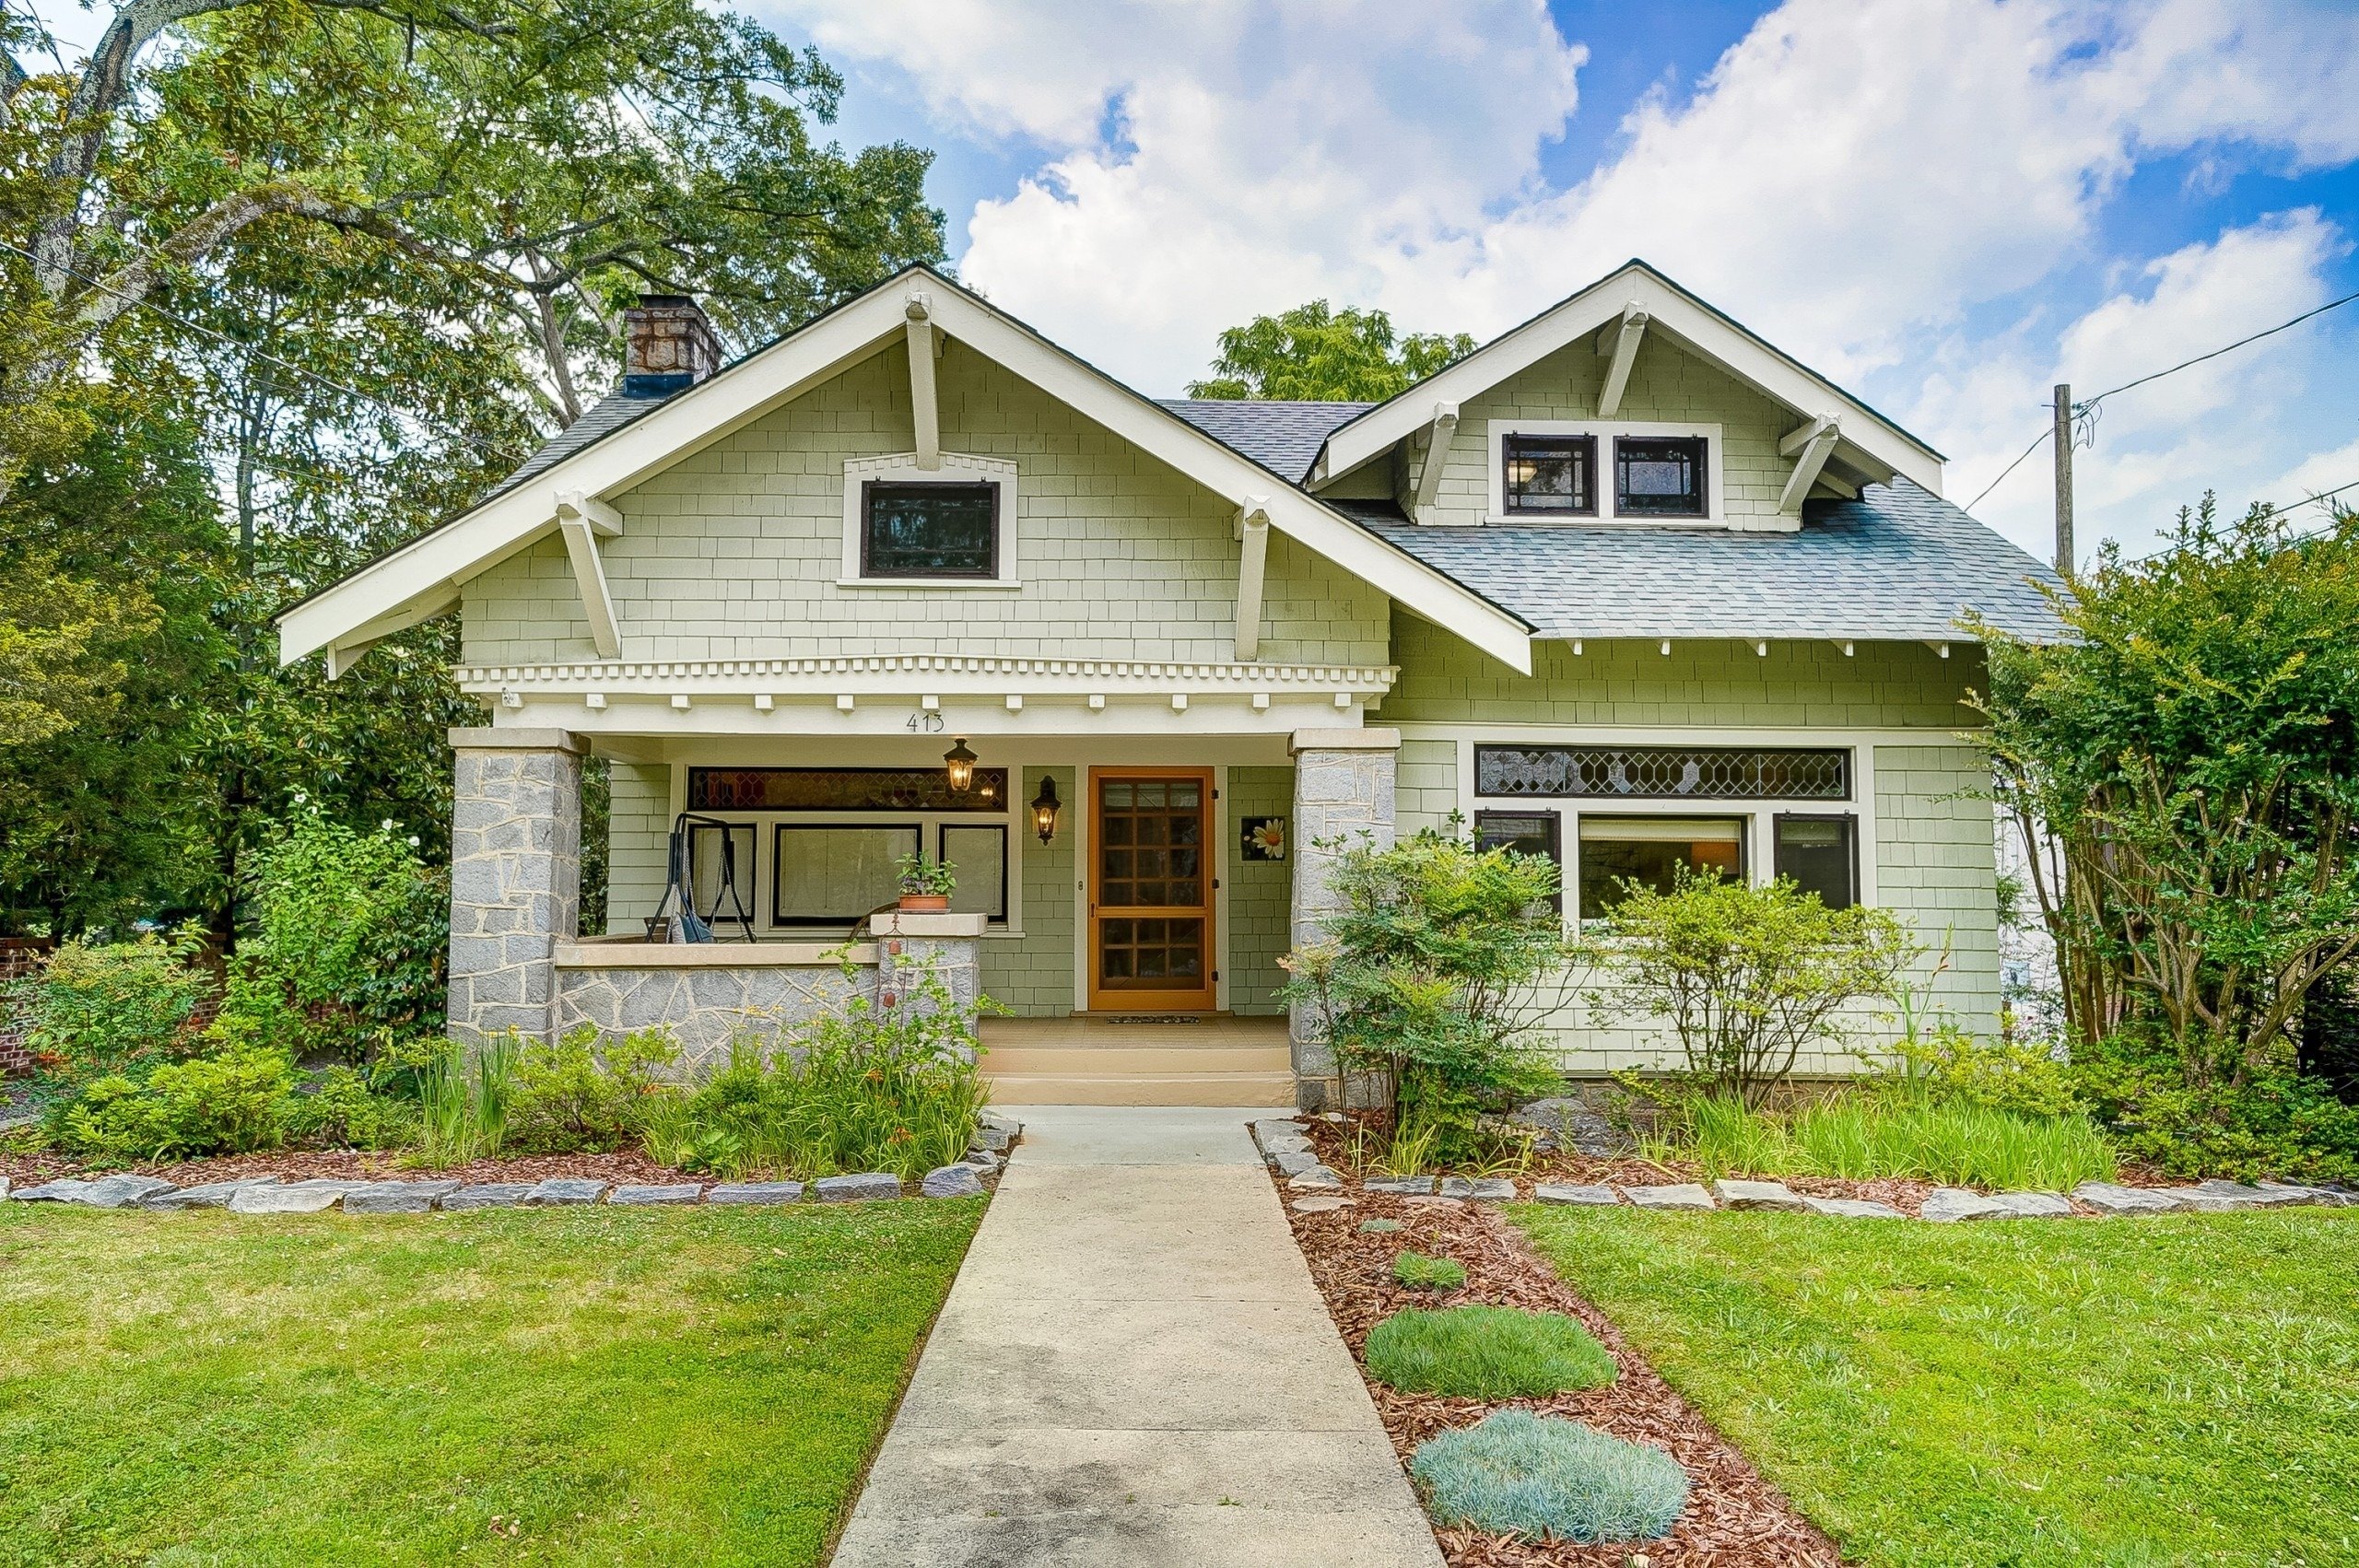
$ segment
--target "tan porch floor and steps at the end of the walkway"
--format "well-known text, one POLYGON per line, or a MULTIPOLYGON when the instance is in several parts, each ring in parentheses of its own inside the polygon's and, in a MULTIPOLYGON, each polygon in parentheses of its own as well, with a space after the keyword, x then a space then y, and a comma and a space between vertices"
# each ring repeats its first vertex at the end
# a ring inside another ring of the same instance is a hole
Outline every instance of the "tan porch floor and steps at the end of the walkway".
POLYGON ((984 1019, 984 1078, 1005 1106, 1293 1106, 1286 1019, 984 1019))

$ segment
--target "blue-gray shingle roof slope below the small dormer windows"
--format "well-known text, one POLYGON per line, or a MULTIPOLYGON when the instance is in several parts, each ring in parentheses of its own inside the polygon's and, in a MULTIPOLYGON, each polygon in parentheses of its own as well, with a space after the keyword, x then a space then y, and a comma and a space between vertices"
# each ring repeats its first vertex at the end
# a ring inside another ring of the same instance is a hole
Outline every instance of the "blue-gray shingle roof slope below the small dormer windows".
POLYGON ((1958 639, 1967 608, 2019 637, 2062 630, 2031 587, 2055 573, 1906 479, 1805 502, 1800 533, 1418 528, 1387 502, 1330 505, 1538 637, 1958 639))

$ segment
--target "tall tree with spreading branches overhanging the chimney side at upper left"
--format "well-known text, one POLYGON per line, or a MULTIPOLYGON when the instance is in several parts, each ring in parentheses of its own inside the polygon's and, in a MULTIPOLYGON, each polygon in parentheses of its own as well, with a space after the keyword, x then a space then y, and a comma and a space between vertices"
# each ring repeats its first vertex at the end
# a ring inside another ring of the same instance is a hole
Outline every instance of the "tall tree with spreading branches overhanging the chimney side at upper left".
POLYGON ((767 335, 939 257, 929 153, 814 144, 840 92, 694 0, 127 0, 80 71, 0 80, 0 486, 57 448, 57 389, 116 321, 257 231, 366 238, 448 290, 460 330, 528 349, 557 422, 632 290, 767 335))

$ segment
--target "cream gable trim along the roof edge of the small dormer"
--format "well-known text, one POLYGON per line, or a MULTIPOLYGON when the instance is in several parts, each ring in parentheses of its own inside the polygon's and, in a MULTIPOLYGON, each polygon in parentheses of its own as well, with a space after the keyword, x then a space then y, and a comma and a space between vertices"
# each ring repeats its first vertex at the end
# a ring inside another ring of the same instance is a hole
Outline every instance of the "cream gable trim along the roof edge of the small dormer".
POLYGON ((1425 429, 1437 403, 1470 403, 1557 349, 1621 321, 1630 309, 1647 314, 1647 335, 1661 332, 1701 354, 1790 408, 1798 422, 1838 415, 1838 465, 1878 483, 1906 474, 1920 488, 1941 493, 1941 453, 1637 259, 1333 429, 1309 469, 1309 483, 1349 474, 1425 429))

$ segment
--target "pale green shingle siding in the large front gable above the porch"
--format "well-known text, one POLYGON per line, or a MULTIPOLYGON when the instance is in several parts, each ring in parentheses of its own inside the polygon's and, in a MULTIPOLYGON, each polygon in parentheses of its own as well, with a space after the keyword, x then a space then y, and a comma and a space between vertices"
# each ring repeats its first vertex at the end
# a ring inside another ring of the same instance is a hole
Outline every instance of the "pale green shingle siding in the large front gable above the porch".
MULTIPOLYGON (((1019 469, 1019 589, 837 587, 845 462, 913 441, 894 349, 616 500, 625 531, 602 556, 623 655, 1234 658, 1234 502, 960 344, 939 375, 944 448, 1019 469)), ((1264 660, 1380 665, 1385 639, 1380 592, 1272 540, 1264 660)), ((561 542, 467 582, 467 663, 578 658, 590 632, 561 542)))

